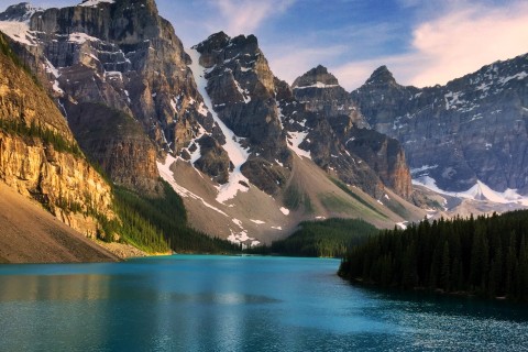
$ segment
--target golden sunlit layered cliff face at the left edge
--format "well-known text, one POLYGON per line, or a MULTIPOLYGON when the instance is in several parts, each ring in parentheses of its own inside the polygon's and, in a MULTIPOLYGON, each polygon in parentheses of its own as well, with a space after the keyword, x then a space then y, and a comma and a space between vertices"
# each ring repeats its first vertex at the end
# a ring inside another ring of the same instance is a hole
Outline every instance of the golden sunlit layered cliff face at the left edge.
MULTIPOLYGON (((9 53, 0 35, 2 52, 9 53)), ((111 219, 111 190, 86 162, 61 112, 12 58, 0 54, 0 179, 57 218, 96 235, 98 213, 111 219)))

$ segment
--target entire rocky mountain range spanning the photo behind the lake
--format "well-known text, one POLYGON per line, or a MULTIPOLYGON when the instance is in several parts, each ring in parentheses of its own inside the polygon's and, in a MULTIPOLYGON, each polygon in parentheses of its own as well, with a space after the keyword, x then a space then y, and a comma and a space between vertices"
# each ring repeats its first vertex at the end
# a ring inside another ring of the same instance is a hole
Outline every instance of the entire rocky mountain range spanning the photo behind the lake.
MULTIPOLYGON (((102 218, 119 218, 112 187, 163 199, 165 182, 193 228, 245 245, 284 238, 302 220, 393 228, 468 204, 528 205, 528 55, 422 89, 383 66, 348 92, 320 65, 280 80, 254 35, 219 32, 186 50, 153 0, 21 3, 0 13, 0 31, 3 55, 20 61, 2 73, 33 77, 0 87, 1 121, 36 121, 86 163, 46 188, 38 161, 37 182, 22 183, 14 160, 28 152, 6 135, 13 146, 2 145, 0 179, 94 237, 102 218), (72 220, 90 218, 84 205, 96 199, 91 228, 72 220)), ((45 143, 35 153, 50 154, 45 143)))

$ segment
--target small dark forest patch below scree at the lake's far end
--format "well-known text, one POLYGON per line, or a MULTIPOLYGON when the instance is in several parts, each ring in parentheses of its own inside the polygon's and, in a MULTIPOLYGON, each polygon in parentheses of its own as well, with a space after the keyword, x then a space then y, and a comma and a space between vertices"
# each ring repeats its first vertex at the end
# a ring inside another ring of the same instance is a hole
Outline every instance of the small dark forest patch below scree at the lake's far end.
POLYGON ((250 253, 290 256, 342 257, 353 246, 364 243, 380 232, 361 219, 328 219, 305 221, 288 238, 268 246, 250 249, 250 253))

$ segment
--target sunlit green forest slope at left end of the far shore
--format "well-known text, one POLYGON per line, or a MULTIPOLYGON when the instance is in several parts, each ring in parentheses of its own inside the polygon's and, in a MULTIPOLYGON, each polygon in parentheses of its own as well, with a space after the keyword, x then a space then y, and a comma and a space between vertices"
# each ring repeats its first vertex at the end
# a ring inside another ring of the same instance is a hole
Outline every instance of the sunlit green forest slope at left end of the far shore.
POLYGON ((114 201, 121 224, 114 224, 133 245, 146 252, 235 253, 240 245, 210 238, 191 229, 182 198, 163 182, 164 197, 147 198, 122 187, 114 188, 114 201))

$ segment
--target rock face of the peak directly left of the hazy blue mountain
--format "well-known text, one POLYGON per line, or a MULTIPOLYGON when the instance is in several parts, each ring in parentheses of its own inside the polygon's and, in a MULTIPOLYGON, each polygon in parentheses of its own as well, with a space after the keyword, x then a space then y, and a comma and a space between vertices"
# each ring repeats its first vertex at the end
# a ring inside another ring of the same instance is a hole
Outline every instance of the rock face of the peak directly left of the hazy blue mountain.
MULTIPOLYGON (((410 197, 410 173, 402 146, 370 129, 350 95, 326 67, 318 66, 297 78, 293 94, 304 107, 304 124, 310 129, 309 148, 318 165, 336 170, 342 180, 361 186, 374 197, 381 196, 383 185, 404 198, 410 197)), ((287 110, 290 103, 285 105, 287 110)))

